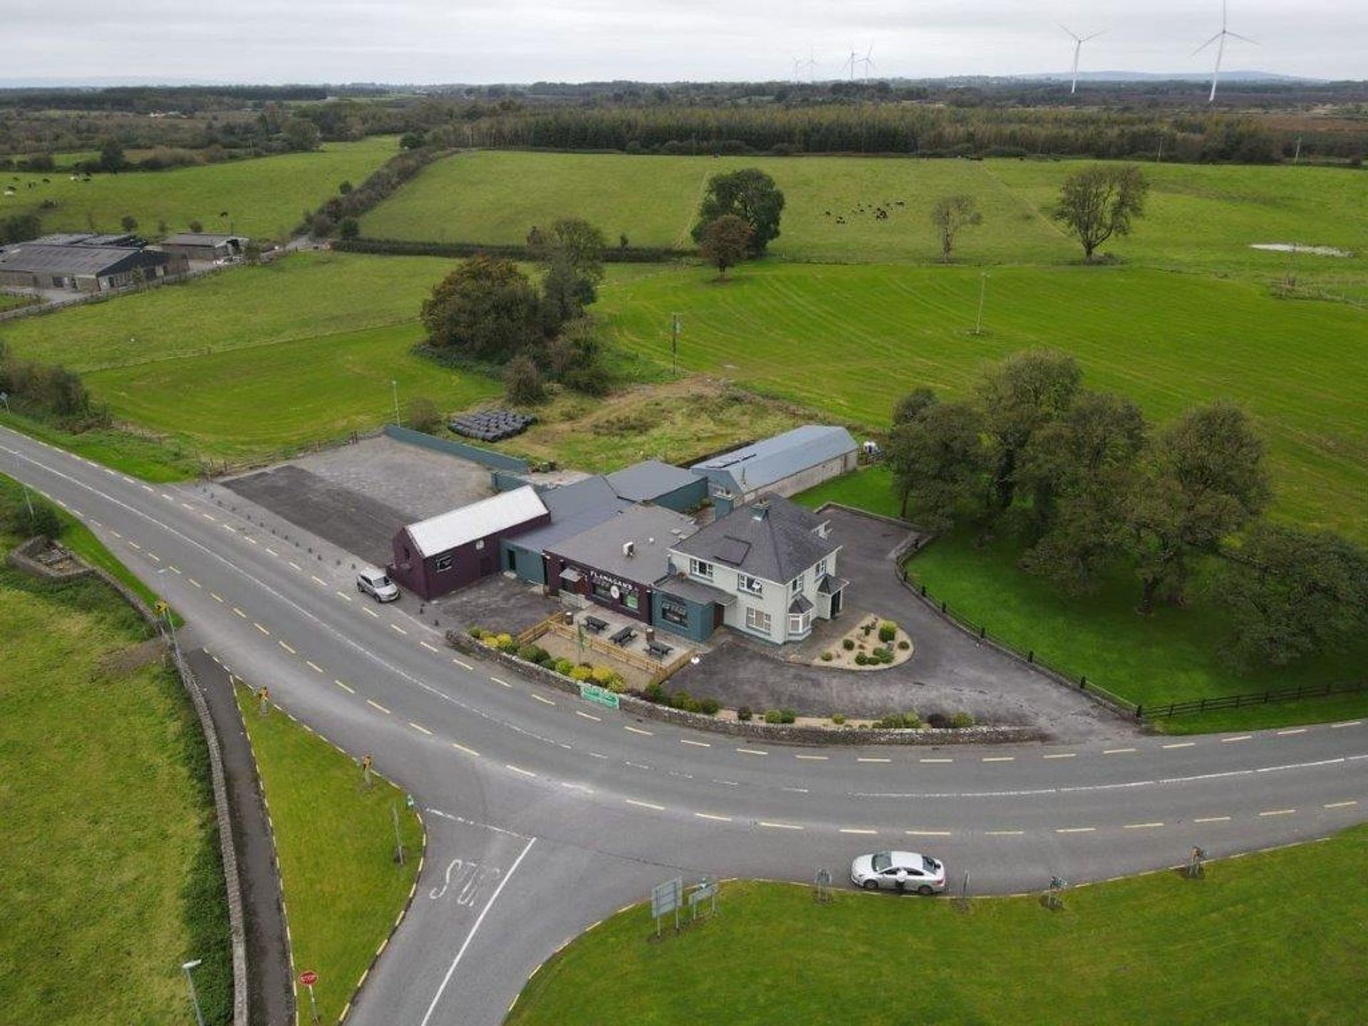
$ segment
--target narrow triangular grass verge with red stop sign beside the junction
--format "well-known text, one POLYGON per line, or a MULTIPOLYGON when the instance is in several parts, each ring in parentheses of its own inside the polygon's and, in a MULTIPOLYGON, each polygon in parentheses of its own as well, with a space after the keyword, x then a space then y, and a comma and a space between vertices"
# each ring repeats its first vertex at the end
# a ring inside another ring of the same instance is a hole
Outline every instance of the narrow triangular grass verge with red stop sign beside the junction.
MULTIPOLYGON (((295 971, 313 970, 323 1022, 337 1022, 417 878, 423 826, 404 793, 361 770, 279 709, 263 715, 238 687, 238 707, 271 806, 295 971), (394 822, 408 852, 394 860, 394 822)), ((298 996, 298 1021, 309 999, 298 996)))

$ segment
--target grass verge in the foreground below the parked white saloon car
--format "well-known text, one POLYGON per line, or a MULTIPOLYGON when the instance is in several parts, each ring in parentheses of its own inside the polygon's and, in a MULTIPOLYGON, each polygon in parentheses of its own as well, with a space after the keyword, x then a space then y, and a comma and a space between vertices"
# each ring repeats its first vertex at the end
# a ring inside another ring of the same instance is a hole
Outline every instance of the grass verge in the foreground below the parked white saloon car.
POLYGON ((1347 1023, 1363 1019, 1368 828, 1036 897, 896 899, 724 884, 718 915, 653 944, 633 906, 554 955, 509 1026, 726 1022, 1347 1023), (1295 880, 1293 889, 1270 881, 1295 880), (743 955, 744 952, 744 955, 743 955))

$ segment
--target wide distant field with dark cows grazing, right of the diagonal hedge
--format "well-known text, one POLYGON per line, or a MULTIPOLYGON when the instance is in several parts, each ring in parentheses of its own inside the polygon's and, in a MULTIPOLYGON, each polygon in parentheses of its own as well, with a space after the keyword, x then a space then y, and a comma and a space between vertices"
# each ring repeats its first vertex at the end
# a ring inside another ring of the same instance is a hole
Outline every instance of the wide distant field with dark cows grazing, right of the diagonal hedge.
MULTIPOLYGON (((610 242, 625 233, 635 245, 689 246, 688 231, 706 179, 740 167, 765 170, 784 190, 782 234, 770 245, 781 259, 937 260, 929 212, 949 193, 974 196, 984 212, 984 224, 960 235, 962 260, 1062 264, 1081 257, 1077 244, 1045 216, 1064 175, 1079 163, 1048 160, 473 152, 430 166, 368 213, 361 226, 378 238, 521 244, 534 224, 581 216, 598 224, 610 242), (528 189, 527 182, 536 182, 536 187, 528 189), (886 220, 874 216, 880 205, 886 220)), ((1133 237, 1108 246, 1124 260, 1280 276, 1287 259, 1249 245, 1301 242, 1358 256, 1302 256, 1300 271, 1356 279, 1368 275, 1363 205, 1368 176, 1363 172, 1183 164, 1145 171, 1153 182, 1148 215, 1133 237)))

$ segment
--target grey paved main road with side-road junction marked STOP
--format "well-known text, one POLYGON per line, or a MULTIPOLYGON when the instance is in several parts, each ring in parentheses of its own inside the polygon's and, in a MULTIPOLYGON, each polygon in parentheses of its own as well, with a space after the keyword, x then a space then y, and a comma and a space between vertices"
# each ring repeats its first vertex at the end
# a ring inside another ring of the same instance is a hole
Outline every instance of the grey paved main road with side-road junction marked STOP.
MULTIPOLYGON (((408 788, 430 830, 361 1023, 497 1023, 560 944, 676 874, 840 878, 926 848, 975 892, 1326 836, 1368 810, 1368 722, 1048 747, 798 748, 637 722, 445 648, 352 558, 205 484, 152 486, 8 431, 0 466, 88 523, 200 644, 408 788)), ((431 610, 428 610, 431 616, 431 610)), ((427 622, 427 625, 424 625, 427 622)))

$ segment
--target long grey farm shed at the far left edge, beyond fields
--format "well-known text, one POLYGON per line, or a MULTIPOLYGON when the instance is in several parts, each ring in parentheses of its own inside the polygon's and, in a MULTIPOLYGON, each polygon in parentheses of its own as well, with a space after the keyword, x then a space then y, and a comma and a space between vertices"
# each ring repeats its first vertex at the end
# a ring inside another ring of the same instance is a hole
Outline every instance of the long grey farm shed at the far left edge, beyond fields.
POLYGON ((175 253, 133 246, 22 242, 0 253, 0 286, 103 293, 186 271, 175 253))

